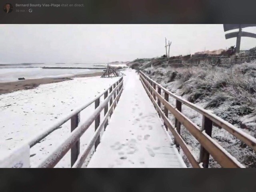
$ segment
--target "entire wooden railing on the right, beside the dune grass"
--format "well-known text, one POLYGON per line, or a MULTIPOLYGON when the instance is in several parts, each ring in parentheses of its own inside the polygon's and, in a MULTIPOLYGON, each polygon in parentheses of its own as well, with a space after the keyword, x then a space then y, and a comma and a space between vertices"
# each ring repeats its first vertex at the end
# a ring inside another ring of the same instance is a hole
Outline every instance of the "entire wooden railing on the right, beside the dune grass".
POLYGON ((244 168, 240 162, 238 162, 230 153, 228 153, 224 148, 222 148, 222 146, 220 146, 211 138, 212 124, 214 122, 219 127, 224 128, 230 134, 234 135, 236 138, 250 146, 255 151, 256 138, 243 132, 239 128, 233 126, 218 116, 208 112, 207 110, 204 110, 203 108, 200 108, 195 104, 184 100, 180 96, 176 96, 175 94, 166 90, 160 84, 154 82, 143 72, 140 71, 139 75, 148 96, 152 100, 159 116, 162 117, 166 129, 169 129, 172 132, 174 136, 174 144, 176 144, 178 148, 182 148, 192 167, 208 168, 209 155, 211 155, 214 160, 216 160, 216 162, 218 162, 218 164, 224 168, 244 168), (162 91, 164 92, 164 98, 161 96, 162 91), (168 102, 169 96, 176 100, 175 107, 168 102), (161 110, 161 104, 164 105, 164 111, 161 110), (182 114, 182 104, 185 104, 186 106, 202 114, 201 128, 199 128, 188 117, 182 114), (175 117, 174 125, 168 119, 168 112, 173 114, 175 117), (198 140, 198 142, 200 142, 201 147, 199 160, 196 160, 192 152, 190 152, 188 149, 188 146, 184 142, 182 136, 180 135, 181 124, 192 134, 192 136, 198 140))

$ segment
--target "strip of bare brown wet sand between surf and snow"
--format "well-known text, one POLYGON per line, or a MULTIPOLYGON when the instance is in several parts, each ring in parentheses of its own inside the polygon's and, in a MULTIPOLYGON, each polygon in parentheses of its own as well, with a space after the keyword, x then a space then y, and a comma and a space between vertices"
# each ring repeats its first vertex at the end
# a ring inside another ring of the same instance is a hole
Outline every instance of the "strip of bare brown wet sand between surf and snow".
POLYGON ((79 74, 79 75, 74 75, 70 77, 26 79, 26 80, 19 80, 15 82, 0 83, 0 94, 10 93, 10 92, 24 90, 24 89, 33 89, 41 84, 62 82, 66 80, 72 80, 73 78, 77 78, 77 77, 101 76, 102 74, 103 72, 95 72, 91 74, 79 74))

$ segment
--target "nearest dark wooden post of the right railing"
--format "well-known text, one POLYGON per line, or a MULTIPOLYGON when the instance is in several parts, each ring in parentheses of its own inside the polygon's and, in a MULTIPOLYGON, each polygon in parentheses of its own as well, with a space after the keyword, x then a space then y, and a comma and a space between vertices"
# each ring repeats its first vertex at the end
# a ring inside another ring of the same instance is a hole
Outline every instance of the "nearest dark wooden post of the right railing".
MULTIPOLYGON (((212 120, 203 115, 202 119, 202 131, 205 131, 210 137, 212 137, 212 120)), ((203 163, 204 168, 209 166, 210 154, 202 146, 200 146, 199 162, 203 163)))

